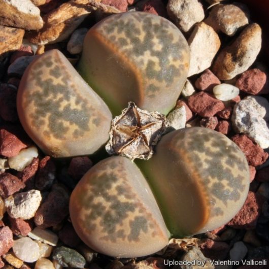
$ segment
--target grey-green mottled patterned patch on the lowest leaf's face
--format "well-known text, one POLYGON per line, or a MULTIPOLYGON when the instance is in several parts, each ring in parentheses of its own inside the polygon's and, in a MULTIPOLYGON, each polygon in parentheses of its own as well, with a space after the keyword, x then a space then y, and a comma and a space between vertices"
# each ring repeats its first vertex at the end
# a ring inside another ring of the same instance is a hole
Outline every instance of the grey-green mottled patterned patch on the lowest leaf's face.
POLYGON ((80 222, 87 230, 102 227, 100 240, 116 243, 118 239, 136 242, 141 232, 155 236, 151 213, 128 183, 128 175, 122 161, 110 161, 98 166, 87 184, 88 190, 79 196, 79 205, 85 214, 80 222), (124 228, 128 223, 129 228, 124 228))

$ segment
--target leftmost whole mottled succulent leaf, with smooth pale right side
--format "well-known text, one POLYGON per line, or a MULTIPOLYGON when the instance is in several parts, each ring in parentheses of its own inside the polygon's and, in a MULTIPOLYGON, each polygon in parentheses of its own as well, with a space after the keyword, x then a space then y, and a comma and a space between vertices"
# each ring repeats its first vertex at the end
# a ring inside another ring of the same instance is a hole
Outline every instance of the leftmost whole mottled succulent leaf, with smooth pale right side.
POLYGON ((58 50, 27 67, 17 110, 29 137, 53 157, 92 154, 109 139, 110 110, 58 50))

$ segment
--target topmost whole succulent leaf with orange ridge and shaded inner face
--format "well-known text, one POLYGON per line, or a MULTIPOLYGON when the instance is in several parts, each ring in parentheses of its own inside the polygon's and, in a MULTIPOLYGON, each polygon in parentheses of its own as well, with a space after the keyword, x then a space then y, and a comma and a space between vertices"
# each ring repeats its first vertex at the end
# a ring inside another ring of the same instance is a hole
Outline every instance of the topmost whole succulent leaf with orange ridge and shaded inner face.
POLYGON ((95 24, 84 39, 78 71, 118 115, 133 101, 167 114, 189 69, 189 46, 170 21, 128 12, 95 24))

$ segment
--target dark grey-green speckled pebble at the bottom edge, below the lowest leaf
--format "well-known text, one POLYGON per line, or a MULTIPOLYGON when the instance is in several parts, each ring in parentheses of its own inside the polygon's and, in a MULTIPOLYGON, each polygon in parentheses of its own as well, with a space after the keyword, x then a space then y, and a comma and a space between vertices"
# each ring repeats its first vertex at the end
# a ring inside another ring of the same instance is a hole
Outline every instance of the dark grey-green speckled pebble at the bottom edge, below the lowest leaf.
POLYGON ((66 247, 56 248, 53 251, 52 259, 57 260, 63 267, 83 268, 86 264, 86 260, 81 254, 66 247))

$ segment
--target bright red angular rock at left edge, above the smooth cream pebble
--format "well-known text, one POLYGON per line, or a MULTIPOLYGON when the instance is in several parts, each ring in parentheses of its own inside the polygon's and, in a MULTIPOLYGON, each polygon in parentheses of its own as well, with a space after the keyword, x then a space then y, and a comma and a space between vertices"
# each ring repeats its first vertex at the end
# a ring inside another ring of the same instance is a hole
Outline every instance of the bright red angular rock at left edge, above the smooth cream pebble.
POLYGON ((15 129, 5 126, 0 129, 0 155, 6 157, 14 157, 19 152, 26 148, 23 143, 14 133, 15 129))

